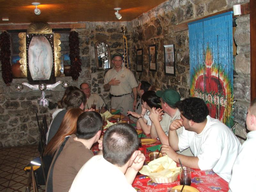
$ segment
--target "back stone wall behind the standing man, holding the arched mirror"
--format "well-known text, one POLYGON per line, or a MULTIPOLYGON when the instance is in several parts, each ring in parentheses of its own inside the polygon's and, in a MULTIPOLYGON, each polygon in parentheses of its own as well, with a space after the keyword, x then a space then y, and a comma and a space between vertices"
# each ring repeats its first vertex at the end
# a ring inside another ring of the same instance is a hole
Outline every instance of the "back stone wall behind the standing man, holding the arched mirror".
MULTIPOLYGON (((104 70, 96 69, 94 45, 100 36, 110 45, 110 52, 122 52, 123 35, 121 27, 129 26, 127 22, 86 22, 86 28, 75 29, 79 33, 80 56, 82 60, 82 72, 77 81, 71 81, 71 77, 58 77, 56 81, 68 80, 71 85, 79 87, 82 82, 92 85, 92 92, 98 93, 105 102, 109 102, 109 92, 103 89, 104 70)), ((131 32, 130 32, 131 33, 131 32)), ((131 46, 130 34, 127 34, 128 46, 131 46)), ((21 92, 15 90, 17 83, 27 82, 27 79, 13 79, 11 86, 6 86, 0 73, 0 147, 20 146, 37 143, 39 131, 36 122, 35 110, 41 121, 46 115, 48 125, 51 122, 52 113, 65 91, 58 85, 52 91, 45 91, 46 97, 51 98, 48 108, 39 107, 37 98, 41 97, 40 91, 32 91, 24 86, 21 92)))

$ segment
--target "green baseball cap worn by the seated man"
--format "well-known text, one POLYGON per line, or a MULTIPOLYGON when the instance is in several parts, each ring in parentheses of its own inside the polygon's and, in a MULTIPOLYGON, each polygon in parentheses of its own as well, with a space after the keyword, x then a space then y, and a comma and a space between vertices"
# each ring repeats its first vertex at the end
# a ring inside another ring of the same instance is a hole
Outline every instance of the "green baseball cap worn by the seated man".
POLYGON ((164 91, 157 91, 156 96, 163 99, 164 102, 170 106, 175 106, 177 101, 180 101, 180 93, 173 89, 165 89, 164 91))

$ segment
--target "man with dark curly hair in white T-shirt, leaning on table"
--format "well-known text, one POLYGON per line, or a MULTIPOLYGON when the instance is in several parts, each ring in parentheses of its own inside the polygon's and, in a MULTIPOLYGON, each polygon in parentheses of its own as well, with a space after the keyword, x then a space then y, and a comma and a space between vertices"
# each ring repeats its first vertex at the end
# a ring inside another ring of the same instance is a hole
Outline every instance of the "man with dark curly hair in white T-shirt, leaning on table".
POLYGON ((218 119, 211 118, 202 99, 190 97, 177 103, 180 119, 170 125, 169 143, 163 145, 166 153, 175 162, 179 157, 184 166, 207 170, 213 169, 224 180, 231 178, 232 166, 241 146, 234 133, 218 119), (176 130, 182 132, 177 134, 176 130), (175 151, 190 147, 194 156, 184 156, 175 151))

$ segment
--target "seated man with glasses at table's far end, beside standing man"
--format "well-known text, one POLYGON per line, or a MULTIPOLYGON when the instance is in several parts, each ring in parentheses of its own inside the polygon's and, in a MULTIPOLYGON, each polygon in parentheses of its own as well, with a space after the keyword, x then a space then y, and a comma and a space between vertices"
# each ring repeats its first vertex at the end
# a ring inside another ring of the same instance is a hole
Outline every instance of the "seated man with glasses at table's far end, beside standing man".
POLYGON ((100 95, 91 93, 91 87, 88 83, 82 83, 80 89, 86 96, 86 109, 91 108, 92 104, 96 105, 96 109, 104 105, 105 102, 101 99, 100 95))

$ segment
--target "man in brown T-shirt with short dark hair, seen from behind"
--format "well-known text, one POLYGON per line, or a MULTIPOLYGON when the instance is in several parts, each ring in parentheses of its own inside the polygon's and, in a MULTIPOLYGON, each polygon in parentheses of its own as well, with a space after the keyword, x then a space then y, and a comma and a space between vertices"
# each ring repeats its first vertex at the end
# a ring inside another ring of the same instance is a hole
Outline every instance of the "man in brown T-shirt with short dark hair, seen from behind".
POLYGON ((76 135, 66 138, 63 149, 58 149, 53 157, 46 183, 47 192, 68 192, 77 172, 93 156, 90 148, 100 138, 100 114, 95 111, 82 113, 77 119, 76 128, 76 135))

